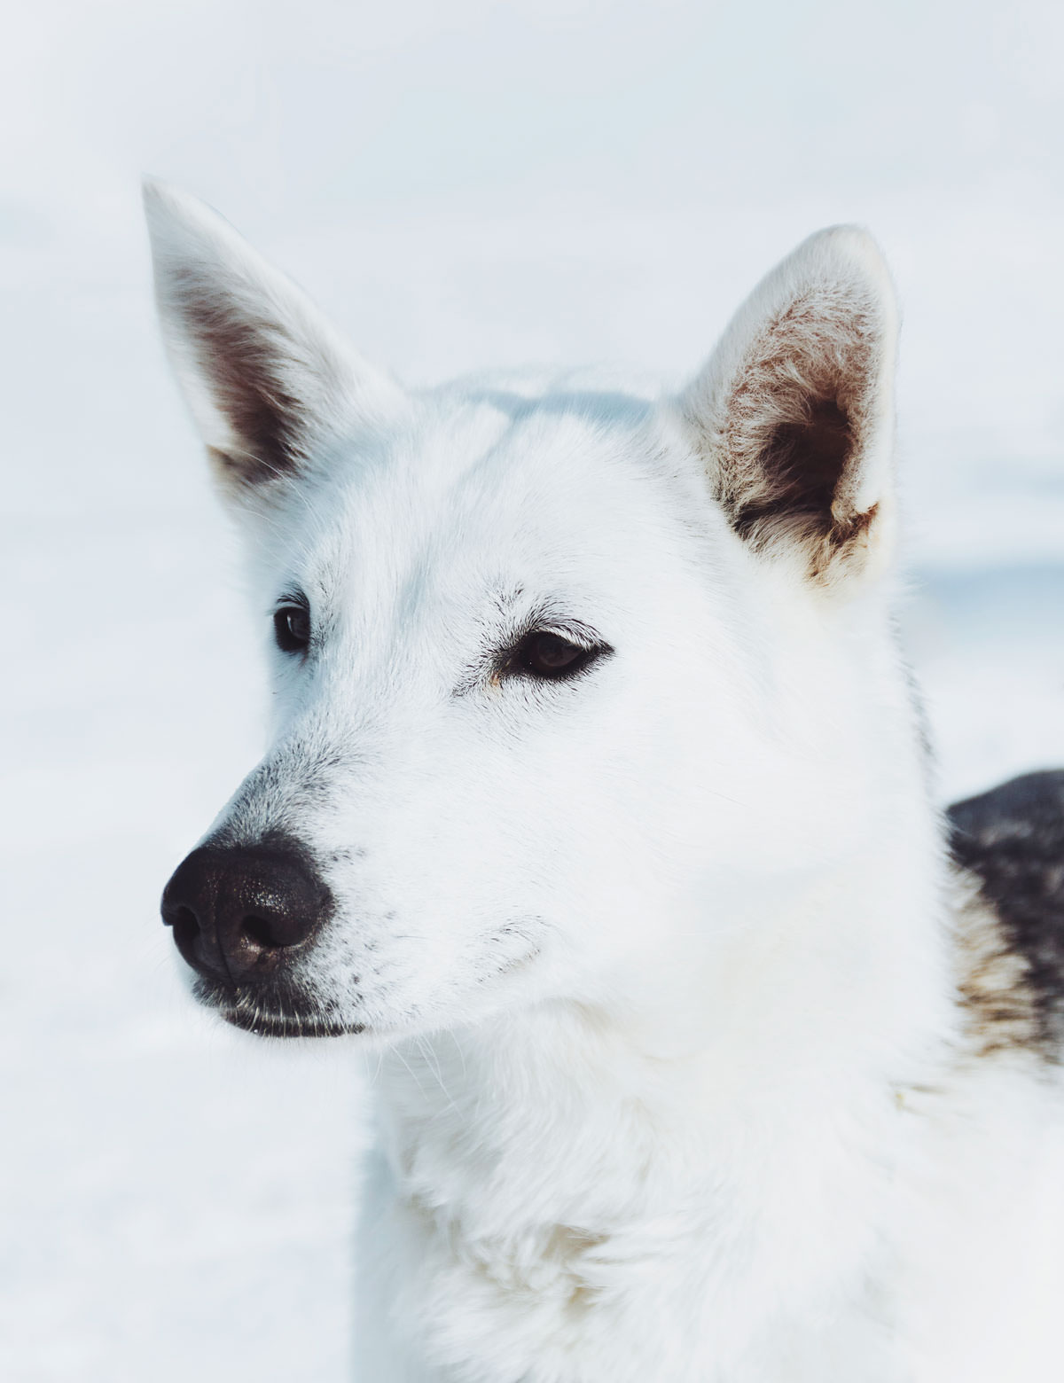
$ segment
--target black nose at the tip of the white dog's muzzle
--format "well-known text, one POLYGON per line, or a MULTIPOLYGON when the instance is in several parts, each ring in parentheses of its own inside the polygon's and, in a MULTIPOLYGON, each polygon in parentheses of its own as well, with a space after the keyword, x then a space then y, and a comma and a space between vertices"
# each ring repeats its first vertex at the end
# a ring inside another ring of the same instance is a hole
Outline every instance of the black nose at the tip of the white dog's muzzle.
POLYGON ((188 964, 210 979, 242 982, 277 969, 331 907, 295 842, 202 845, 162 895, 162 918, 188 964))

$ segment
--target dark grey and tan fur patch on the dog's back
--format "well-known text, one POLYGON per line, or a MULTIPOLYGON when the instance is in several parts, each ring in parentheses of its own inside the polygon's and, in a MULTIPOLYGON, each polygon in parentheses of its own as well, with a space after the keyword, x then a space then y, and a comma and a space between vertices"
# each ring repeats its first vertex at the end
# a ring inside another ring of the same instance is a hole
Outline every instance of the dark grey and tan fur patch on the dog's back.
POLYGON ((1064 770, 956 802, 962 996, 981 1050, 1064 1051, 1064 770))

